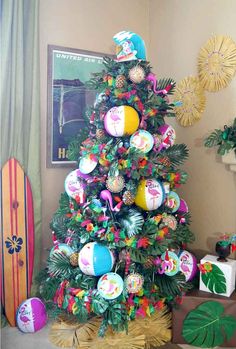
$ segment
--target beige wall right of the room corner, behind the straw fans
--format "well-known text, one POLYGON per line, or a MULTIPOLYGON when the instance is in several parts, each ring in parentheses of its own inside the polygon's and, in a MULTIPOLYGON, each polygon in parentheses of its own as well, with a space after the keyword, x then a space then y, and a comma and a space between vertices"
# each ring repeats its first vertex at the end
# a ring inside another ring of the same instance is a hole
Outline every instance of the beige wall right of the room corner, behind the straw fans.
MULTIPOLYGON (((236 41, 235 0, 150 0, 150 60, 158 77, 177 82, 197 74, 200 48, 214 34, 236 41)), ((214 251, 219 233, 236 232, 236 175, 203 147, 208 132, 236 117, 236 77, 224 90, 206 93, 206 110, 192 127, 174 122, 178 143, 186 143, 190 157, 184 168, 189 180, 181 190, 192 213, 194 248, 214 251)))

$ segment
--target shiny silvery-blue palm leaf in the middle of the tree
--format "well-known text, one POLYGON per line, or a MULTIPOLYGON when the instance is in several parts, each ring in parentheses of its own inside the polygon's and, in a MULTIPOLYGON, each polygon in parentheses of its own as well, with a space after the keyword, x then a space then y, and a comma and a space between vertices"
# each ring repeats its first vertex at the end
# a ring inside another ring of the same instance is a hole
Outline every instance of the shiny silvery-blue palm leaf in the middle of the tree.
POLYGON ((130 208, 127 213, 123 213, 122 217, 119 218, 119 223, 128 237, 131 237, 142 230, 144 218, 140 212, 130 208))

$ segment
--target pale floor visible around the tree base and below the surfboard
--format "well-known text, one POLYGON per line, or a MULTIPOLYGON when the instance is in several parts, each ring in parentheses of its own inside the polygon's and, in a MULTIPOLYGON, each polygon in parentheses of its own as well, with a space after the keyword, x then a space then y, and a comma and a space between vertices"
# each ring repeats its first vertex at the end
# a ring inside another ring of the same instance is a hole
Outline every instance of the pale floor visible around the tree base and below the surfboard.
MULTIPOLYGON (((48 339, 50 324, 36 333, 22 333, 16 327, 4 327, 0 329, 0 348, 1 349, 58 349, 51 344, 48 339)), ((173 349, 174 349, 173 345, 173 349)), ((172 348, 172 345, 169 347, 172 348)), ((183 349, 197 349, 191 345, 180 345, 183 349)), ((218 347, 217 347, 218 348, 218 347)), ((215 348, 215 349, 217 349, 215 348)), ((168 349, 165 346, 165 349, 168 349)), ((224 349, 224 348, 221 348, 224 349)), ((230 349, 230 348, 225 348, 230 349)), ((232 348, 236 349, 236 348, 232 348)))

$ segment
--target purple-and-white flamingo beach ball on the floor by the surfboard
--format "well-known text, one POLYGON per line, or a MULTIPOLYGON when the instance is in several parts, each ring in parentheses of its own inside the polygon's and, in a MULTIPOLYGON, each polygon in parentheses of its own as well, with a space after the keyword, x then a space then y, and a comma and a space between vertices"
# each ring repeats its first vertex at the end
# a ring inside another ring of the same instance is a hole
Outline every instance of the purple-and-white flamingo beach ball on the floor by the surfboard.
POLYGON ((43 302, 37 298, 29 298, 22 302, 16 313, 16 323, 20 331, 34 333, 47 323, 47 313, 43 302))

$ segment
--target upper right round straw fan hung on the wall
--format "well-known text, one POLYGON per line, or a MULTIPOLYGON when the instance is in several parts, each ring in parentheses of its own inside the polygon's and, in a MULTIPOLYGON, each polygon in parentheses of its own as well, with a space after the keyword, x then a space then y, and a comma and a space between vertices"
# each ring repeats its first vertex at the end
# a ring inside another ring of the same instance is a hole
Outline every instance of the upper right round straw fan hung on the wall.
POLYGON ((205 90, 216 92, 225 88, 236 72, 236 44, 228 36, 210 38, 198 57, 198 74, 205 90))

